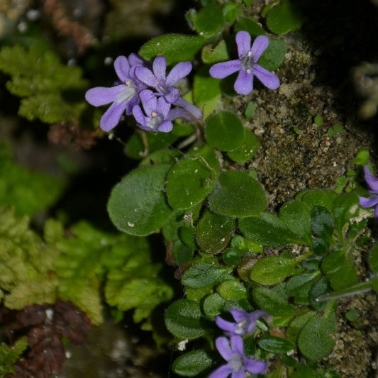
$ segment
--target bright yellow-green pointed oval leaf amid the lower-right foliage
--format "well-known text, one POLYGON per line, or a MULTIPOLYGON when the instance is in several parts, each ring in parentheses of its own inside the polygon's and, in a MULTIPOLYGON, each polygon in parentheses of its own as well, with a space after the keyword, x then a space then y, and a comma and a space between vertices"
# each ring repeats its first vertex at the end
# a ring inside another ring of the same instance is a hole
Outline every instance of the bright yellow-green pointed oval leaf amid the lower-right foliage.
POLYGON ((301 262, 301 258, 285 258, 282 256, 267 256, 252 267, 250 279, 262 285, 274 285, 282 282, 297 272, 296 265, 301 262))

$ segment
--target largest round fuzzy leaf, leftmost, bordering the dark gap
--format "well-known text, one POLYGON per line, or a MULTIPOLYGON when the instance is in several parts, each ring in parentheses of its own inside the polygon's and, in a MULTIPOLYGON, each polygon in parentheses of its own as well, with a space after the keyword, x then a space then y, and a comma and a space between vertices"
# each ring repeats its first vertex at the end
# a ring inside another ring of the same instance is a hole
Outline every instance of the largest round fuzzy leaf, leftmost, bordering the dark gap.
POLYGON ((172 213, 164 193, 169 167, 165 164, 135 169, 113 187, 108 213, 118 230, 145 236, 164 225, 172 213))

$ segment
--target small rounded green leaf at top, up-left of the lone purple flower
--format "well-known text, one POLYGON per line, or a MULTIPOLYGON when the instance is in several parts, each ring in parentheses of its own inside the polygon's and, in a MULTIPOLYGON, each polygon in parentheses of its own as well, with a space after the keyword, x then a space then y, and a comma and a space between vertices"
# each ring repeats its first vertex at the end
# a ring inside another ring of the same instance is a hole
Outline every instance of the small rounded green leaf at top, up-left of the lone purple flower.
POLYGON ((222 7, 218 4, 205 6, 194 19, 194 28, 199 35, 211 38, 223 28, 222 7))

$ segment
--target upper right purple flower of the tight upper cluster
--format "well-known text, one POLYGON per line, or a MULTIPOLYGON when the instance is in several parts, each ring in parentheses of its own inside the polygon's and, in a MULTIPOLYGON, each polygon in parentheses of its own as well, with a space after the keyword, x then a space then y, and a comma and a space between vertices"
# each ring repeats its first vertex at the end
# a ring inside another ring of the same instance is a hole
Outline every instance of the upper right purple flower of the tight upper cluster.
POLYGON ((180 62, 167 76, 166 70, 165 57, 156 57, 152 63, 152 71, 147 67, 136 67, 135 76, 148 87, 155 89, 157 96, 163 96, 169 104, 174 104, 179 99, 180 91, 173 85, 191 72, 191 62, 180 62))

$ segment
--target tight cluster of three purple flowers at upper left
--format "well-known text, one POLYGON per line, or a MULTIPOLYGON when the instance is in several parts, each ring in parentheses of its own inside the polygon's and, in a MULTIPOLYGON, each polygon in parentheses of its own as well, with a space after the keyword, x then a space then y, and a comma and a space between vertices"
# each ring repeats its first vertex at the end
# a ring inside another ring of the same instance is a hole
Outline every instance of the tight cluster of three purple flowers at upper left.
POLYGON ((133 114, 139 128, 163 133, 172 130, 172 121, 176 118, 188 121, 202 118, 201 110, 183 99, 179 89, 174 87, 191 72, 191 62, 180 62, 166 74, 167 60, 156 57, 151 68, 135 54, 128 58, 117 57, 114 69, 118 82, 110 88, 95 87, 87 91, 85 99, 91 105, 112 103, 101 117, 102 130, 116 127, 124 111, 127 115, 133 114))

